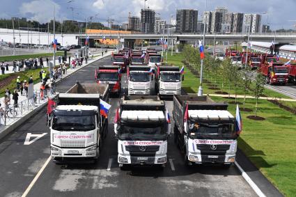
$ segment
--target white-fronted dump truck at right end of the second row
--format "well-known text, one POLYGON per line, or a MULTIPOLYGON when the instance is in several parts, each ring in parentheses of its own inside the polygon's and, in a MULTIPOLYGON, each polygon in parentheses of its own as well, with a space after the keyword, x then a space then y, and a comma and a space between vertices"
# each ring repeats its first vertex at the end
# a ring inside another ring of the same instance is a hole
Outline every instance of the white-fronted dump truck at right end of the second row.
POLYGON ((159 95, 181 95, 182 77, 180 68, 173 65, 158 65, 155 70, 155 91, 159 95))

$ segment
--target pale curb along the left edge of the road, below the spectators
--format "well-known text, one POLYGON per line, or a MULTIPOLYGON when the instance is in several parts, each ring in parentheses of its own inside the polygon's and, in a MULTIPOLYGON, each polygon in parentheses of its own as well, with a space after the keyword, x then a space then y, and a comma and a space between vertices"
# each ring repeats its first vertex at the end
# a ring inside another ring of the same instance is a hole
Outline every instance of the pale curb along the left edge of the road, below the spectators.
MULTIPOLYGON (((111 54, 107 54, 107 56, 109 56, 109 55, 111 55, 111 54)), ((100 60, 100 59, 102 59, 104 57, 107 57, 107 56, 102 56, 102 57, 98 58, 98 60, 100 60)), ((98 60, 95 60, 95 61, 98 61, 98 60)), ((94 63, 95 61, 92 61, 91 63, 94 63)), ((56 81, 56 83, 59 83, 59 82, 63 81, 63 79, 67 79, 67 77, 70 77, 72 74, 74 74, 75 72, 77 72, 81 68, 84 68, 84 67, 86 67, 87 65, 89 65, 91 63, 88 63, 88 64, 86 64, 84 66, 81 66, 81 67, 77 68, 74 72, 68 74, 66 77, 64 77, 62 79, 59 79, 59 81, 56 81)), ((56 95, 54 95, 54 97, 56 97, 56 95)), ((52 98, 54 98, 54 97, 52 97, 52 98)), ((15 121, 15 123, 13 123, 12 125, 6 126, 6 128, 3 129, 2 132, 0 132, 0 140, 3 139, 8 134, 10 134, 10 132, 13 132, 17 127, 20 127, 20 125, 22 125, 22 123, 24 123, 26 120, 31 118, 31 116, 33 116, 35 113, 38 113, 38 111, 40 111, 43 107, 45 107, 47 105, 47 102, 48 101, 40 104, 35 109, 29 111, 28 113, 26 113, 26 115, 24 115, 19 120, 15 121)))

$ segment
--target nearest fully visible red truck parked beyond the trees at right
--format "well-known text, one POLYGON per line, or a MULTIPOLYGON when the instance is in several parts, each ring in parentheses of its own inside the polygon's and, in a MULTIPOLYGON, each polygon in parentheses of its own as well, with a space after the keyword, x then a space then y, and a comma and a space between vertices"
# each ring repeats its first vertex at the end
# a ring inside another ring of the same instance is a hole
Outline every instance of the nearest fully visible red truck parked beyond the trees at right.
POLYGON ((288 83, 288 68, 284 63, 271 62, 261 64, 260 71, 265 75, 267 84, 282 84, 288 83))

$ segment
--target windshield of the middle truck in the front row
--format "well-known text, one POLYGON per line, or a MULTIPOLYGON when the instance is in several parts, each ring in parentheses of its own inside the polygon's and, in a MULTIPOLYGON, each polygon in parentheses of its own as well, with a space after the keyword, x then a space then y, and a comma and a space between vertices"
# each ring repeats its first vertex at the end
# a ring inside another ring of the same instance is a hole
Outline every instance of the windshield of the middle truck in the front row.
POLYGON ((120 125, 120 139, 159 139, 166 138, 164 123, 125 123, 120 125))

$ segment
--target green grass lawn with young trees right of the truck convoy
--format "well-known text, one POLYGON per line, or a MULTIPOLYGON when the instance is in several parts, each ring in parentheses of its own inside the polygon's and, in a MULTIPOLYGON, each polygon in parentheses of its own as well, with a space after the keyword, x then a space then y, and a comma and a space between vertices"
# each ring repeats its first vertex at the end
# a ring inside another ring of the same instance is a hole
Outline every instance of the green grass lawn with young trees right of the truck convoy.
MULTIPOLYGON (((182 55, 169 56, 169 63, 182 66, 182 55)), ((205 75, 205 77, 207 77, 205 75)), ((207 79, 207 78, 205 78, 207 79)), ((208 79, 210 81, 210 79, 208 79)), ((221 84, 220 84, 221 85, 221 84)), ((182 88, 187 93, 197 93, 199 78, 189 69, 185 69, 185 81, 182 88)), ((219 84, 218 84, 219 86, 219 84)), ((208 85, 203 85, 204 93, 213 93, 208 85)), ((215 90, 217 91, 217 90, 215 90)), ((224 89, 224 91, 228 91, 224 89)), ((241 91, 241 90, 240 90, 241 91)), ((241 92, 238 93, 241 93, 241 92)), ((231 90, 233 93, 233 90, 231 90)), ((271 90, 265 90, 265 95, 283 97, 271 90)), ((234 100, 212 97, 213 100, 231 102, 234 100)), ((242 102, 242 99, 238 99, 242 102)), ((295 106, 295 102, 285 102, 295 106)), ((230 104, 228 110, 235 115, 235 104, 230 104)), ((243 132, 238 139, 239 148, 258 169, 286 196, 296 194, 296 116, 267 100, 259 100, 258 116, 265 120, 250 120, 247 116, 254 115, 255 100, 247 99, 246 107, 251 112, 241 111, 243 132)))

